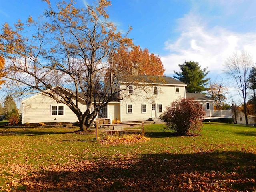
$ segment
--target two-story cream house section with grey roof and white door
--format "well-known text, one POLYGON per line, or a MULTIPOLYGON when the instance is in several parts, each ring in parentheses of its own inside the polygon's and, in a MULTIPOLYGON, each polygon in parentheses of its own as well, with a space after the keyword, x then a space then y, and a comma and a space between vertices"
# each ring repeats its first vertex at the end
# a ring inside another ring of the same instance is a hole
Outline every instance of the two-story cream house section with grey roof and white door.
POLYGON ((121 121, 158 118, 174 100, 186 98, 186 84, 172 77, 138 75, 137 78, 134 83, 130 78, 120 81, 120 88, 126 87, 120 100, 121 121))

